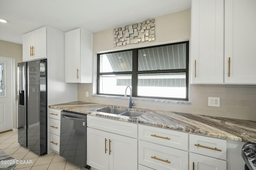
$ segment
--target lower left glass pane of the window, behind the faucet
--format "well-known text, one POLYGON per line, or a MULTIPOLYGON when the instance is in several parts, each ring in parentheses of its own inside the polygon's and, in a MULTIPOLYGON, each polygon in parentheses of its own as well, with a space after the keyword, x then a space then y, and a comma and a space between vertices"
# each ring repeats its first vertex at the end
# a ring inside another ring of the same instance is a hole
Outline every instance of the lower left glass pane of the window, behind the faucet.
POLYGON ((100 93, 124 95, 125 88, 132 86, 132 75, 100 75, 99 85, 100 93))

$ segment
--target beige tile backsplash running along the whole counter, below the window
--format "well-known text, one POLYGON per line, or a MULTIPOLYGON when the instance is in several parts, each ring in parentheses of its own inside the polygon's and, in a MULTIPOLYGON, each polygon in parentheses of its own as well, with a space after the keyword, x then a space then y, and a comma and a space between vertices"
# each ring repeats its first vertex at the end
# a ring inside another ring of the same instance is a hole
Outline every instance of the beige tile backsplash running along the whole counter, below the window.
MULTIPOLYGON (((78 84, 78 101, 128 106, 128 100, 91 97, 92 84, 78 84), (85 97, 89 91, 90 97, 85 97)), ((256 121, 256 85, 189 85, 190 104, 134 101, 135 107, 256 121), (220 107, 208 106, 220 97, 220 107)))

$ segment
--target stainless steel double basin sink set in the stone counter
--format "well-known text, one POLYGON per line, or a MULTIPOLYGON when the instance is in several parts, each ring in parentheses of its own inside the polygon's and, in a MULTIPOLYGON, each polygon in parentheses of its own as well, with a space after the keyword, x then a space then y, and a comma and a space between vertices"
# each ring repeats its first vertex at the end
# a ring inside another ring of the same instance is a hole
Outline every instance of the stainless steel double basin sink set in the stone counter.
POLYGON ((98 112, 110 113, 115 115, 122 115, 128 117, 139 117, 144 114, 144 112, 139 111, 130 111, 127 109, 117 108, 117 107, 109 107, 97 110, 98 112))

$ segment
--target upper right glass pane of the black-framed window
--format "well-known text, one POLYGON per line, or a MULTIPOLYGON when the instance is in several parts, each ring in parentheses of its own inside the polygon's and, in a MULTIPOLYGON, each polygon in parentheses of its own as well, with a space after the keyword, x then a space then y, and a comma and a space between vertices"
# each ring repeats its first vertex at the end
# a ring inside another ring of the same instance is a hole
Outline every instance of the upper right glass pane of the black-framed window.
POLYGON ((186 69, 186 43, 138 50, 138 71, 186 69))

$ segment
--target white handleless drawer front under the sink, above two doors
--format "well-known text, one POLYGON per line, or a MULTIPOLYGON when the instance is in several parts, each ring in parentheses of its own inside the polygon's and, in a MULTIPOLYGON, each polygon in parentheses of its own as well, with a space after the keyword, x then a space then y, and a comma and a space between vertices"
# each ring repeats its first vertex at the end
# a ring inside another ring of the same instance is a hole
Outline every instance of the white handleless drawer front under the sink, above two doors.
POLYGON ((87 115, 87 126, 132 138, 137 138, 138 136, 138 125, 135 123, 87 115))

